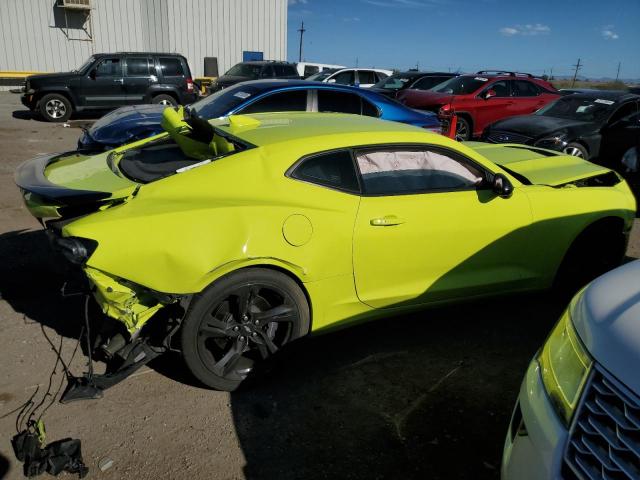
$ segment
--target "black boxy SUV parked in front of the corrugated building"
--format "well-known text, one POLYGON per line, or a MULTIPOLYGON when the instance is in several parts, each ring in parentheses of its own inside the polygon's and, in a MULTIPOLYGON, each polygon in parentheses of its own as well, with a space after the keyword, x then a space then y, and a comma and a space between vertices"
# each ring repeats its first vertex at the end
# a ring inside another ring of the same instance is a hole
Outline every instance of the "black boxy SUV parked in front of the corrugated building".
POLYGON ((22 103, 50 122, 64 122, 82 110, 188 104, 196 98, 182 55, 121 52, 95 54, 72 72, 27 77, 22 103))

